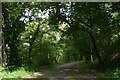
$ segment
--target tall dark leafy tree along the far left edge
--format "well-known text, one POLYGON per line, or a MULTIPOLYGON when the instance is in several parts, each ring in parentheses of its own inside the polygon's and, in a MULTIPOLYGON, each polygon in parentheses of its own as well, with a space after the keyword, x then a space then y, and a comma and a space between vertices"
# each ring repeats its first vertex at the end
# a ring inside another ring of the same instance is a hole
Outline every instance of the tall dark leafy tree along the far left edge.
POLYGON ((18 37, 19 34, 24 30, 24 23, 19 21, 22 15, 21 4, 3 3, 2 10, 2 15, 4 19, 4 24, 2 28, 5 51, 7 54, 7 66, 20 66, 21 57, 18 49, 18 37))

